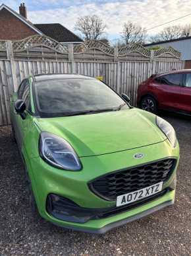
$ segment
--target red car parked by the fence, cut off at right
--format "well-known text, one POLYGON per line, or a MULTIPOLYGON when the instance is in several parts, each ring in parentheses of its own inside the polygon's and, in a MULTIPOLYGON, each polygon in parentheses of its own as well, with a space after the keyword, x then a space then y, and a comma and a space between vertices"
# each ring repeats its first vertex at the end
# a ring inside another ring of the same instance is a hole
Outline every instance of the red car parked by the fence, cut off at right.
POLYGON ((138 86, 138 107, 191 114, 191 69, 158 73, 138 86))

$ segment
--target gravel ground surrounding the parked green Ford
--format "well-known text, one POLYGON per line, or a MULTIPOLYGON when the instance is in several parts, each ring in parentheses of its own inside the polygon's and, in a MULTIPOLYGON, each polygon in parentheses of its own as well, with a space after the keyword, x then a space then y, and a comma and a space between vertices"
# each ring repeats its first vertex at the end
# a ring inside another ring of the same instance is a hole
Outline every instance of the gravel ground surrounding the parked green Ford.
POLYGON ((174 206, 105 235, 57 228, 32 216, 10 128, 0 128, 0 255, 191 255, 191 118, 165 114, 181 157, 174 206))

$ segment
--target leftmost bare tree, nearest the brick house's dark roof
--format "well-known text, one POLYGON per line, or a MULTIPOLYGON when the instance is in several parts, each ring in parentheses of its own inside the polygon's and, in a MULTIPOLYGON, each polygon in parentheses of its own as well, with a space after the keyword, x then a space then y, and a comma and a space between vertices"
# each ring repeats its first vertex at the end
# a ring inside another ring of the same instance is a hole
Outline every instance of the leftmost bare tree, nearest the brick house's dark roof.
POLYGON ((74 26, 84 40, 98 40, 105 32, 106 25, 97 15, 79 17, 74 26))

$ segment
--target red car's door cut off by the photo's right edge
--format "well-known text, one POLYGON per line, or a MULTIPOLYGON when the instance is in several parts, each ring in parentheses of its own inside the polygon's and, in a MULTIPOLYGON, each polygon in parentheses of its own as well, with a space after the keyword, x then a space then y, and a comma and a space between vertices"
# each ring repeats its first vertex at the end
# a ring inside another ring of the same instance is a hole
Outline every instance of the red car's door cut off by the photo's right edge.
POLYGON ((184 83, 181 88, 181 108, 186 112, 191 112, 191 73, 184 74, 184 83))

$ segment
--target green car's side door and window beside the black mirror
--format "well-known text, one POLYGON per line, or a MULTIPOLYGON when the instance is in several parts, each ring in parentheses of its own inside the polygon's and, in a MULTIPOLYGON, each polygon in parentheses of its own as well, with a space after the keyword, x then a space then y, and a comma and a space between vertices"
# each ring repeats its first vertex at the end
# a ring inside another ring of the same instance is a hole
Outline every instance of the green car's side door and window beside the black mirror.
MULTIPOLYGON (((17 91, 17 99, 22 99, 22 101, 24 101, 24 103, 26 104, 26 115, 28 115, 30 112, 30 87, 28 79, 24 79, 24 81, 22 81, 22 83, 20 84, 20 87, 17 91)), ((15 111, 13 119, 13 126, 16 141, 18 143, 18 149, 21 150, 24 140, 24 130, 26 122, 24 119, 22 119, 20 114, 17 114, 15 111)))

